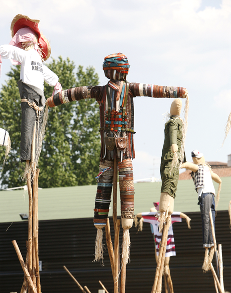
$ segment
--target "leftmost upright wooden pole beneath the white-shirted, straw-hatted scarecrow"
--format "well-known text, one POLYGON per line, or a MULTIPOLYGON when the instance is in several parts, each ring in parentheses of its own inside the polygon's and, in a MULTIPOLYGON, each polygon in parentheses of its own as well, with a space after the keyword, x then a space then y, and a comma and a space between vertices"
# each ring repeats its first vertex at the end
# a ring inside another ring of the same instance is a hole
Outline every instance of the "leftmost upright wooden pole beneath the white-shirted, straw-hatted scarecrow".
POLYGON ((27 189, 29 196, 29 216, 28 216, 28 271, 32 275, 32 241, 33 241, 33 196, 31 188, 31 173, 27 173, 27 189))

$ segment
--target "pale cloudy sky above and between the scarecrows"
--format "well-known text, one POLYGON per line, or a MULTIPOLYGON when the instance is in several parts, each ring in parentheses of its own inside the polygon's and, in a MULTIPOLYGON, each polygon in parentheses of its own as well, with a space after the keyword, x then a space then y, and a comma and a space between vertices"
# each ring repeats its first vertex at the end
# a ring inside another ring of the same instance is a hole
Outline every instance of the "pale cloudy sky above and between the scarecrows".
MULTIPOLYGON (((229 0, 8 0, 0 10, 1 44, 11 41, 10 26, 17 14, 39 19, 39 28, 51 44, 51 57, 69 57, 76 67, 93 66, 99 85, 108 81, 102 71, 104 57, 122 52, 131 65, 129 82, 187 88, 187 161, 197 149, 206 161, 227 162, 231 133, 221 145, 231 112, 229 0)), ((0 87, 6 84, 11 66, 3 60, 0 87)), ((171 103, 134 98, 135 180, 160 178, 164 114, 171 103)))

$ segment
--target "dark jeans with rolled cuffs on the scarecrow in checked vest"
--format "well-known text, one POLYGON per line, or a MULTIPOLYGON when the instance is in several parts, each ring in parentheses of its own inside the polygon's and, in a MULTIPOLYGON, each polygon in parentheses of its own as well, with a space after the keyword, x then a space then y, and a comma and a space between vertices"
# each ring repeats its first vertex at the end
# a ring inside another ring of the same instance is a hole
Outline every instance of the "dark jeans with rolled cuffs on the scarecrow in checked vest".
POLYGON ((202 193, 200 201, 200 214, 202 220, 202 234, 203 234, 203 246, 212 247, 212 231, 209 218, 210 209, 212 211, 213 227, 215 231, 215 201, 213 193, 202 193))

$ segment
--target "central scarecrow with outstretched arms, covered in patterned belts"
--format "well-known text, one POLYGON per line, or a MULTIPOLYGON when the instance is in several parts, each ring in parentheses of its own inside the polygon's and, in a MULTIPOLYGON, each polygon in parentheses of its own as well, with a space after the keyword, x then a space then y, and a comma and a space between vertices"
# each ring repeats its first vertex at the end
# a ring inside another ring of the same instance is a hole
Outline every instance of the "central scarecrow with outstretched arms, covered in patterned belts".
MULTIPOLYGON (((135 158, 135 131, 133 98, 135 96, 181 98, 188 96, 187 90, 183 87, 130 83, 126 80, 129 68, 129 61, 123 53, 108 55, 103 62, 104 74, 109 79, 106 85, 66 89, 47 100, 47 105, 50 107, 89 98, 95 99, 99 104, 101 153, 99 174, 96 177, 98 184, 94 208, 94 226, 97 228, 95 260, 103 258, 102 228, 107 223, 113 176, 117 176, 117 168, 119 167, 121 218, 125 236, 123 246, 126 242, 128 248, 125 264, 129 259, 129 229, 133 225, 134 218, 135 191, 132 159, 135 158)), ((114 182, 117 183, 117 180, 114 182)))

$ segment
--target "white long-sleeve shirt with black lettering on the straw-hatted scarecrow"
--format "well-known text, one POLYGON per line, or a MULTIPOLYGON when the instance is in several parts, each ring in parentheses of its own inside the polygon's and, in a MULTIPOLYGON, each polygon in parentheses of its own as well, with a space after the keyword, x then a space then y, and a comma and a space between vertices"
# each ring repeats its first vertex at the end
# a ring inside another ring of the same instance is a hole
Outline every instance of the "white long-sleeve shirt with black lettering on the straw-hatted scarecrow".
POLYGON ((27 84, 44 90, 44 81, 55 86, 59 80, 58 76, 43 64, 39 53, 34 49, 25 51, 12 45, 2 45, 0 54, 3 59, 14 59, 21 63, 20 78, 27 84))

